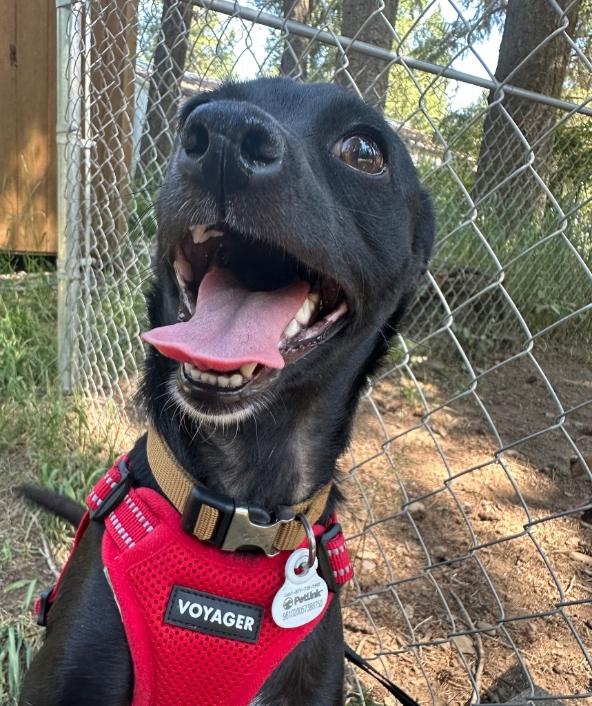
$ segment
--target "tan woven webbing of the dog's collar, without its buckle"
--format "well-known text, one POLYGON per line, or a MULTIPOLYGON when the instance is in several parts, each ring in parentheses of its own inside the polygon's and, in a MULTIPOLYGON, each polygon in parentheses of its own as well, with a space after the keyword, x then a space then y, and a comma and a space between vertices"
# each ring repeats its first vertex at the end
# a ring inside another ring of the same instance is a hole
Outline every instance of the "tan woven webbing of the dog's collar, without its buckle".
MULTIPOLYGON (((152 473, 160 488, 169 501, 183 514, 193 486, 200 486, 200 484, 181 466, 167 442, 152 427, 148 430, 147 456, 152 473)), ((314 525, 325 510, 331 487, 332 483, 322 486, 308 500, 294 505, 292 508, 294 514, 303 513, 310 525, 314 525)), ((212 539, 219 522, 219 515, 217 508, 202 503, 193 527, 195 537, 206 542, 212 539)), ((286 549, 291 551, 301 544, 305 536, 301 522, 293 519, 289 522, 283 522, 279 526, 272 544, 277 551, 286 549)))

